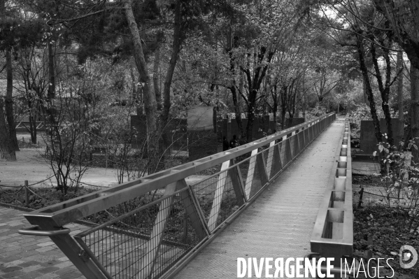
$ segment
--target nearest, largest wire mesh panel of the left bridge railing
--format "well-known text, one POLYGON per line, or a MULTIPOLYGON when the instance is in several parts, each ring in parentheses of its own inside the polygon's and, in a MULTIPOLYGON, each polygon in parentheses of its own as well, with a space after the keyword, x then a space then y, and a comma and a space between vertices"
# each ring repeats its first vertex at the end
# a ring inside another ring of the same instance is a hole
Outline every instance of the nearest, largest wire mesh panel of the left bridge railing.
POLYGON ((75 236, 112 278, 158 278, 206 236, 189 189, 75 236))

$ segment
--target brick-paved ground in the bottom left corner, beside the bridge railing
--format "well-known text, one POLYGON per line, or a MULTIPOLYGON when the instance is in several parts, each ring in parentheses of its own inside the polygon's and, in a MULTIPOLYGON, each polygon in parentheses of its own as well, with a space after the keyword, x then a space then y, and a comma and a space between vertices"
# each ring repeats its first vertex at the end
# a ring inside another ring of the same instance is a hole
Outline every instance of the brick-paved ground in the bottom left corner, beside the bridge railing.
MULTIPOLYGON (((29 222, 20 210, 0 207, 0 278, 85 278, 49 237, 23 236, 18 229, 29 222)), ((83 226, 68 224, 71 234, 83 226)))

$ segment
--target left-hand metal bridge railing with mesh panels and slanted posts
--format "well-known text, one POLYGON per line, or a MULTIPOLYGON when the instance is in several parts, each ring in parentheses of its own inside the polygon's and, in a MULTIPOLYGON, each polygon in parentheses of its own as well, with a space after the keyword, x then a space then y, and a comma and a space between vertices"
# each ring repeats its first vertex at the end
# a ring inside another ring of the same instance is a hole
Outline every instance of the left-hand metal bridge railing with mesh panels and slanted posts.
POLYGON ((24 216, 86 278, 169 278, 215 238, 334 121, 330 113, 232 150, 24 216), (220 166, 192 185, 185 178, 220 166), (75 236, 66 224, 97 224, 75 236), (63 233, 65 230, 65 233, 63 233))

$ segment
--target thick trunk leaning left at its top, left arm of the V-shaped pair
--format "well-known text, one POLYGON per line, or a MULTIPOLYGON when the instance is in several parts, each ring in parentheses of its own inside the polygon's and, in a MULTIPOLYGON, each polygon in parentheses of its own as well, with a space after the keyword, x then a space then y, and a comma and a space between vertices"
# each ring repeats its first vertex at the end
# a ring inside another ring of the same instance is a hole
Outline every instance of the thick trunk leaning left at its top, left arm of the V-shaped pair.
POLYGON ((141 45, 141 37, 139 28, 135 22, 134 13, 132 12, 132 1, 124 1, 125 17, 127 18, 129 31, 132 35, 132 41, 134 43, 134 60, 139 71, 140 82, 143 84, 143 98, 144 98, 144 110, 145 120, 147 122, 147 148, 148 158, 150 162, 150 173, 154 173, 157 169, 158 163, 158 138, 156 137, 156 120, 157 120, 157 103, 154 92, 150 90, 150 74, 148 73, 147 64, 145 63, 145 57, 143 52, 143 46, 141 45))

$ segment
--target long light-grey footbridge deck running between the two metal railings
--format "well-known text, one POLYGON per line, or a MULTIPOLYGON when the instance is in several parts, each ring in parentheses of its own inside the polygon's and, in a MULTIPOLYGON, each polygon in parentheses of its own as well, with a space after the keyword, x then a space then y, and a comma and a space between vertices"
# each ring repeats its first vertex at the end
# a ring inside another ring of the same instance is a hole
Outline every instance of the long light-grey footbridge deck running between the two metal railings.
POLYGON ((306 256, 344 125, 330 124, 176 278, 237 278, 238 257, 306 256))

